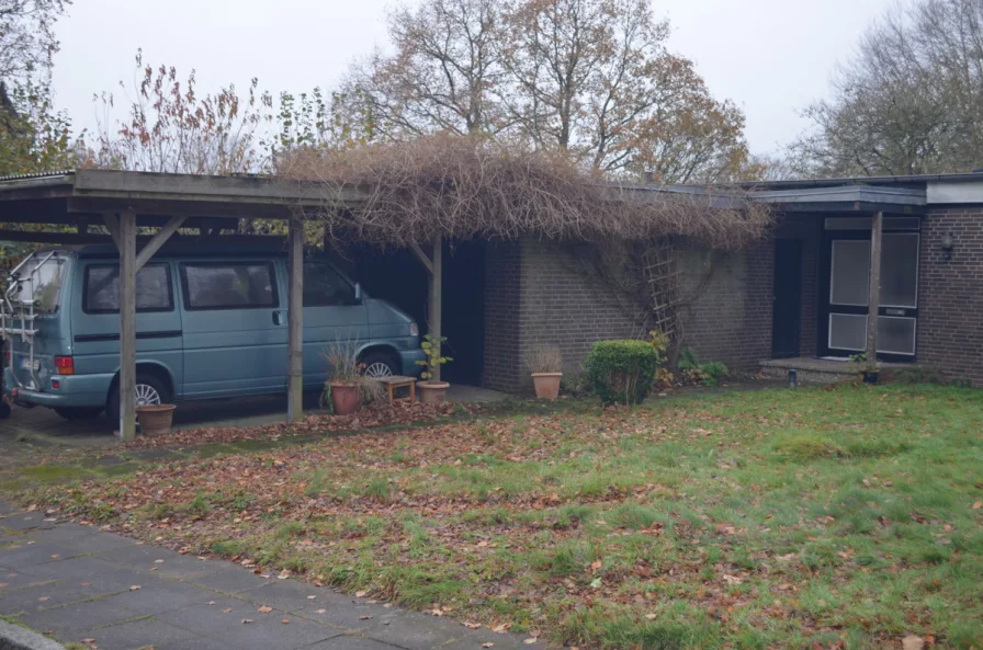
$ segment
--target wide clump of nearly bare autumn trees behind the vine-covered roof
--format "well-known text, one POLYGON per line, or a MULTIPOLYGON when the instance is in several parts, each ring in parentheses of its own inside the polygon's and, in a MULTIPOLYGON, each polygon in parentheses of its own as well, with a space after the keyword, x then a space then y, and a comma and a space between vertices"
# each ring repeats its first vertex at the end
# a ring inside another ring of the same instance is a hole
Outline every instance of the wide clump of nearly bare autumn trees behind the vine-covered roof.
POLYGON ((666 50, 668 32, 646 0, 425 0, 393 15, 396 54, 357 66, 341 96, 380 139, 484 134, 612 175, 733 178, 744 116, 666 50))

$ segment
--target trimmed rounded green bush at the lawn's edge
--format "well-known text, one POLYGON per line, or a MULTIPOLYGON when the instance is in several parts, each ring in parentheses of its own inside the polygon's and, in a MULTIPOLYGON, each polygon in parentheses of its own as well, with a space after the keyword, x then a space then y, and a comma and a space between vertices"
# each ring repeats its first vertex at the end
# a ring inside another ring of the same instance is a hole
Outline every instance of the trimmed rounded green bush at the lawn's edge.
POLYGON ((584 372, 606 404, 637 404, 652 390, 658 355, 645 341, 600 341, 594 344, 584 372))

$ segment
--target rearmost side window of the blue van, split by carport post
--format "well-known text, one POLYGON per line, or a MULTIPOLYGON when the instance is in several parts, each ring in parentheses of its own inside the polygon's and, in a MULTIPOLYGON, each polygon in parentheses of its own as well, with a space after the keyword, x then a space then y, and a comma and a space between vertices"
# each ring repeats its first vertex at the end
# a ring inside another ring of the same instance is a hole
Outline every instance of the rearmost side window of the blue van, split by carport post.
MULTIPOLYGON (((136 274, 136 310, 170 311, 174 308, 171 273, 167 264, 147 264, 136 274)), ((120 267, 88 266, 82 294, 86 313, 120 311, 120 267)))

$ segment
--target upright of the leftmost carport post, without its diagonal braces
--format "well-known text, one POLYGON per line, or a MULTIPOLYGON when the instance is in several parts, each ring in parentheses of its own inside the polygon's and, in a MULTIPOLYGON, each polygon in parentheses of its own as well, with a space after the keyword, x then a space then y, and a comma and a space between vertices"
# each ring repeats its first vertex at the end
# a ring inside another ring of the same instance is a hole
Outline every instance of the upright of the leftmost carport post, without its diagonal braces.
POLYGON ((120 247, 120 437, 136 438, 136 215, 123 214, 120 247))

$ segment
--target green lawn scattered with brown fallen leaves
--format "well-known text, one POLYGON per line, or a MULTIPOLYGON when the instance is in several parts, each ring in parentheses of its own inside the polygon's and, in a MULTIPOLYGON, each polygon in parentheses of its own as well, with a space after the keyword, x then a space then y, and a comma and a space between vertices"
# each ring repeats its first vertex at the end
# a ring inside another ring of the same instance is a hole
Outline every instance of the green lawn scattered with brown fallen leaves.
POLYGON ((328 437, 32 499, 581 648, 983 648, 981 429, 971 389, 764 390, 328 437))

